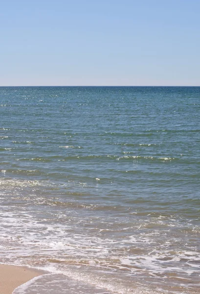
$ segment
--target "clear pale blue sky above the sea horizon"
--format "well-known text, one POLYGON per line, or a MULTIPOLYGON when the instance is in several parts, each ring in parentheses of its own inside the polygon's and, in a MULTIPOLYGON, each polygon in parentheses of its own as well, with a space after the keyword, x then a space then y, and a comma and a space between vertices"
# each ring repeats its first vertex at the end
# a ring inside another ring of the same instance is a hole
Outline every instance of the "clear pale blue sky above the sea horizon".
POLYGON ((0 4, 0 86, 200 86, 200 0, 0 4))

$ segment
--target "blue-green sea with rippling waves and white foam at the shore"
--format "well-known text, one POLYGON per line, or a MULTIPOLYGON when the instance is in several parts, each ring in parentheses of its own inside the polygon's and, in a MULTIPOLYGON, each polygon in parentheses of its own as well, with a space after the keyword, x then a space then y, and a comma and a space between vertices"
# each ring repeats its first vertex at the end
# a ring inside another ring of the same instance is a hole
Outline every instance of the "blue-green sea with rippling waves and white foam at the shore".
POLYGON ((1 87, 15 294, 200 293, 200 87, 1 87))

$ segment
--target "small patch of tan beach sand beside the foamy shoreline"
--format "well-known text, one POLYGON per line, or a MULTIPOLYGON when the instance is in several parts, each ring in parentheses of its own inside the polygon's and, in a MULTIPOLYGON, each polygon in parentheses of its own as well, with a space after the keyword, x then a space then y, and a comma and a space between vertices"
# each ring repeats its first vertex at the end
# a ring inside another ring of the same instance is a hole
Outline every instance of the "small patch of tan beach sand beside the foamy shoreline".
POLYGON ((18 286, 42 273, 39 270, 0 265, 0 294, 12 294, 18 286))

